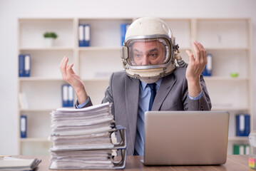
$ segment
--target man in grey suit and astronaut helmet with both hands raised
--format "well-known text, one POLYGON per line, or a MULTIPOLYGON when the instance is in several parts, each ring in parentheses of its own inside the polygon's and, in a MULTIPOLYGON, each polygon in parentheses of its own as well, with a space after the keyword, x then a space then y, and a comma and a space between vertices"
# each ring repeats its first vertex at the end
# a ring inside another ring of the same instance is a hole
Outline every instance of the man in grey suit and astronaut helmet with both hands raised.
MULTIPOLYGON (((113 73, 102 103, 110 102, 117 125, 126 127, 128 155, 143 155, 144 113, 147 110, 210 110, 211 103, 201 73, 205 48, 195 41, 195 56, 188 68, 175 65, 178 45, 167 24, 144 17, 131 24, 121 48, 125 71, 113 73)), ((92 105, 83 81, 73 72, 68 58, 61 61, 63 79, 73 86, 76 108, 92 105)), ((120 138, 118 137, 118 140, 120 138)))

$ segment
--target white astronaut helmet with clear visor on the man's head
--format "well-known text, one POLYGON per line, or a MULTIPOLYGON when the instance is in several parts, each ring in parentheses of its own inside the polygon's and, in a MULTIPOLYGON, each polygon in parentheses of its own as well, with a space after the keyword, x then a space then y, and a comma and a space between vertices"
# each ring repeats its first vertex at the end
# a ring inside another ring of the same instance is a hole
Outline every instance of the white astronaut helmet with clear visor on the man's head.
POLYGON ((143 17, 130 24, 126 31, 121 48, 123 68, 133 78, 161 78, 175 69, 175 51, 178 45, 165 21, 143 17))

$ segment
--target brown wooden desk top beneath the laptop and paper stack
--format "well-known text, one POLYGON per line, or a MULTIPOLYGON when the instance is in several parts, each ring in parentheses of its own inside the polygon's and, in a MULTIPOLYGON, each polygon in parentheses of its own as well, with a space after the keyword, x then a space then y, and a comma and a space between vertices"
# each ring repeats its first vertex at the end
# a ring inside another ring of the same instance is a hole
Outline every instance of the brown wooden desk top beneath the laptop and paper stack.
MULTIPOLYGON (((23 156, 17 155, 24 159, 39 158, 42 162, 39 164, 37 171, 49 170, 50 156, 23 156)), ((210 165, 210 166, 160 166, 160 167, 145 167, 140 160, 142 156, 128 156, 126 160, 125 170, 172 170, 172 171, 255 171, 248 167, 248 155, 228 155, 225 165, 210 165)), ((61 170, 58 170, 61 171, 61 170)), ((67 171, 67 170, 66 170, 67 171)), ((80 170, 83 171, 83 170, 80 170)), ((93 170, 94 171, 94 170, 93 170)))

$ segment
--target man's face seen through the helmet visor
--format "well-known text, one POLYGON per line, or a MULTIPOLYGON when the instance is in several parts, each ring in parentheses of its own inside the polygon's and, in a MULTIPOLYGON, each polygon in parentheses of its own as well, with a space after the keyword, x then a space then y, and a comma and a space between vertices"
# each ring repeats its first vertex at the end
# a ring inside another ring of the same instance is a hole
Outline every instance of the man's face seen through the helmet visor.
POLYGON ((137 41, 132 46, 136 66, 160 65, 165 59, 165 47, 159 41, 137 41))

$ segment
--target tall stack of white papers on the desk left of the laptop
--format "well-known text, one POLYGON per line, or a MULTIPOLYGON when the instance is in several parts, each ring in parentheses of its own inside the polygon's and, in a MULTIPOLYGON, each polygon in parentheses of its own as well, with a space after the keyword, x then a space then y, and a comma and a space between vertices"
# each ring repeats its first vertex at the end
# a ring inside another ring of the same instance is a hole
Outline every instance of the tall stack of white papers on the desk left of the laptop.
POLYGON ((51 112, 51 169, 114 167, 111 133, 116 130, 111 103, 51 112))

